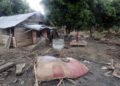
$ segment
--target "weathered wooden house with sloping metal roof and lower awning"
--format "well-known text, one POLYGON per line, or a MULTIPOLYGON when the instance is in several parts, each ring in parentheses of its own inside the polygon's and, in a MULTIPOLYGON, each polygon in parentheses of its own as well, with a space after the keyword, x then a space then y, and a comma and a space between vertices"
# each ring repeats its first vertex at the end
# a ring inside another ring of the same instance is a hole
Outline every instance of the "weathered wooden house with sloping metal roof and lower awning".
POLYGON ((53 28, 44 25, 44 17, 38 12, 0 17, 0 44, 5 47, 35 44, 50 29, 53 28))

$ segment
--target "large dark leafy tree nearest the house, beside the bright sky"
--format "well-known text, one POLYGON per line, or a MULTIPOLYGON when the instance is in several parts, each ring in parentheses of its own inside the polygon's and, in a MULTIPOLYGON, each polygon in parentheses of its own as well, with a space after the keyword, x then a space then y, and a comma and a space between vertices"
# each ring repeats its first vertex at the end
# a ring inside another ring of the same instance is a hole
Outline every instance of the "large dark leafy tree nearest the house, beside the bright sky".
POLYGON ((66 31, 91 27, 95 22, 87 0, 44 0, 49 9, 48 18, 52 23, 66 26, 66 31))

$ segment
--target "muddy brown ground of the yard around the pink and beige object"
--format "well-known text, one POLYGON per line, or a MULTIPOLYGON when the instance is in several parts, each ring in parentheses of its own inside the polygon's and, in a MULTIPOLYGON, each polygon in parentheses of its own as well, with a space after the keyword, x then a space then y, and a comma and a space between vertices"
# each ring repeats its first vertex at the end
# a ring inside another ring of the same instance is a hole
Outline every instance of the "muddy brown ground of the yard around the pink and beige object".
MULTIPOLYGON (((13 61, 16 64, 26 63, 29 65, 39 55, 52 55, 58 58, 73 57, 86 64, 89 72, 85 76, 75 79, 76 84, 64 80, 62 86, 120 86, 120 79, 113 76, 105 76, 107 71, 101 69, 105 63, 110 62, 110 59, 120 62, 120 46, 95 40, 87 40, 87 42, 88 45, 86 47, 71 47, 67 44, 62 51, 56 51, 49 46, 34 51, 31 50, 31 47, 8 50, 1 46, 0 63, 13 61), (46 53, 47 50, 49 52, 46 53)), ((19 76, 15 74, 15 67, 0 73, 0 86, 34 86, 34 81, 32 67, 19 76)), ((42 82, 40 86, 57 86, 58 83, 59 80, 54 80, 42 82)))

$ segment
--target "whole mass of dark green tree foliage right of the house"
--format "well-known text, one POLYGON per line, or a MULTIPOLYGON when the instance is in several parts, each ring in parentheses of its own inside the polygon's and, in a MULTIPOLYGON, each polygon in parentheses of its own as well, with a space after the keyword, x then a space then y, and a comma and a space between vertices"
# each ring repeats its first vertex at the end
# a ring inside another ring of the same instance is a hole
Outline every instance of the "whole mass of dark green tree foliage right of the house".
POLYGON ((120 0, 43 0, 49 21, 72 30, 110 31, 120 26, 120 0))

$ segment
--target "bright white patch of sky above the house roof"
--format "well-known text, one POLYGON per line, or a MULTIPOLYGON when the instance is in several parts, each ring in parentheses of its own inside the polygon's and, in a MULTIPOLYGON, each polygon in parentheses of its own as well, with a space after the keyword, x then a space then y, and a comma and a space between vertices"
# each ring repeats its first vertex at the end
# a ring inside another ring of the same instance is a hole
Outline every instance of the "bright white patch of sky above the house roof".
POLYGON ((44 7, 42 4, 40 4, 42 0, 26 0, 26 1, 29 3, 29 6, 31 7, 31 9, 35 11, 39 11, 43 15, 45 15, 44 7))

